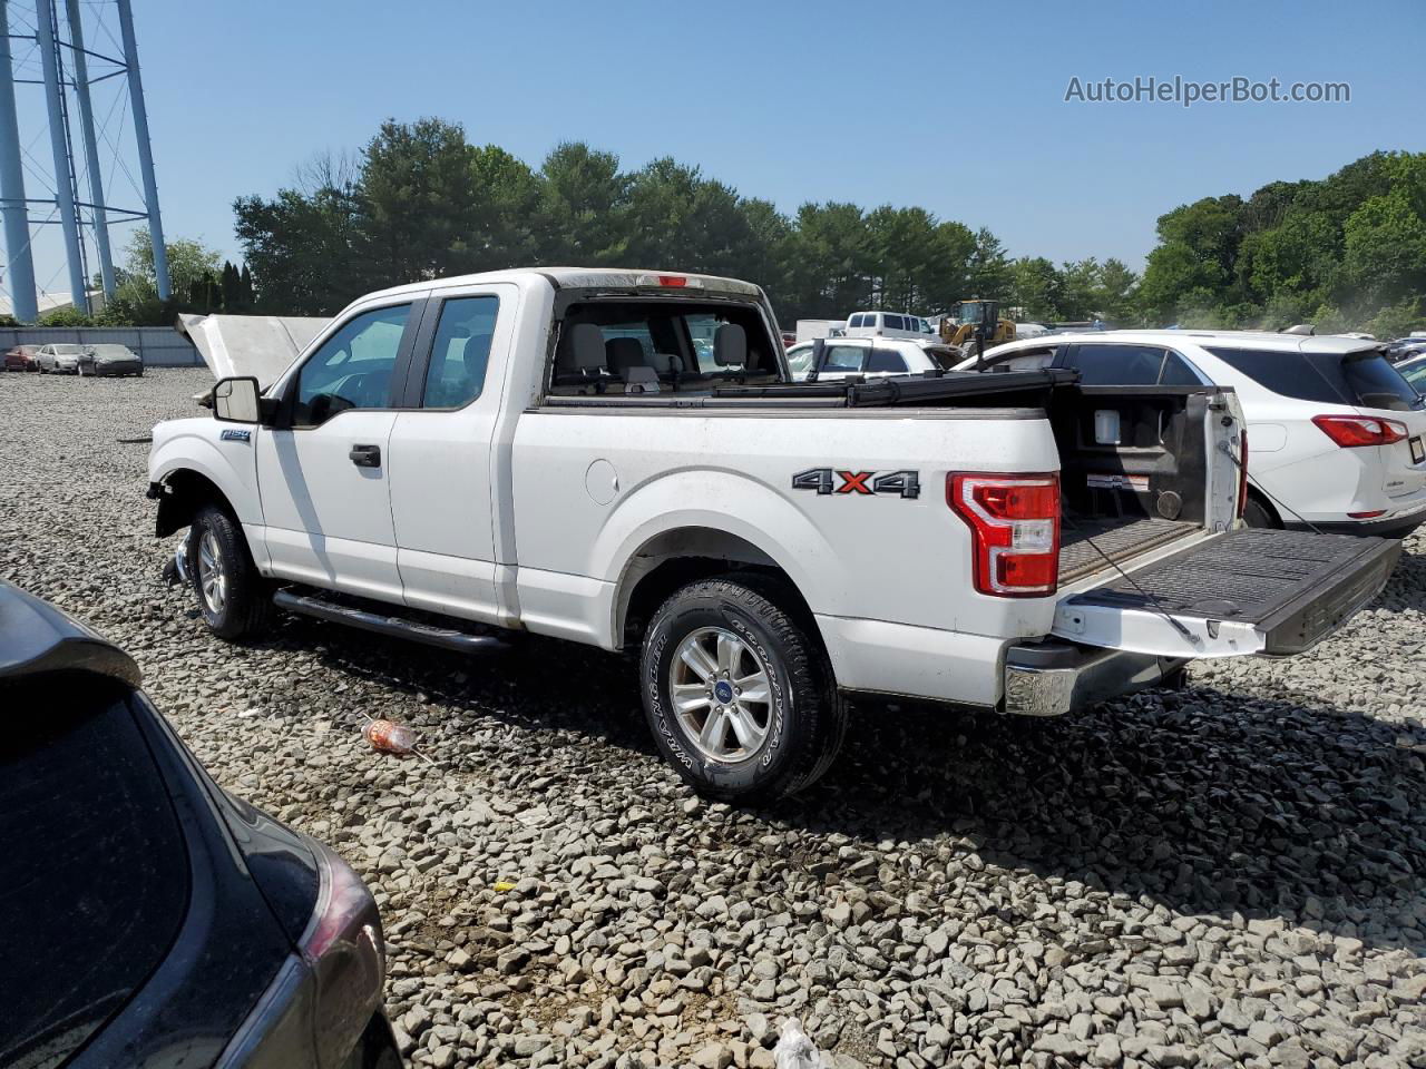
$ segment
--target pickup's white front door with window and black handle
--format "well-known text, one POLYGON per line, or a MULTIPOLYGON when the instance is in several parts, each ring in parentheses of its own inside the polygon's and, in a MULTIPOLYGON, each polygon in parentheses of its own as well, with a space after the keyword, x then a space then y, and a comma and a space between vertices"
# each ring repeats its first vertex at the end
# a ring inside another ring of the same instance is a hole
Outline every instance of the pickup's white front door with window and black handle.
POLYGON ((288 376, 257 446, 275 576, 401 601, 386 452, 421 304, 354 312, 288 376))

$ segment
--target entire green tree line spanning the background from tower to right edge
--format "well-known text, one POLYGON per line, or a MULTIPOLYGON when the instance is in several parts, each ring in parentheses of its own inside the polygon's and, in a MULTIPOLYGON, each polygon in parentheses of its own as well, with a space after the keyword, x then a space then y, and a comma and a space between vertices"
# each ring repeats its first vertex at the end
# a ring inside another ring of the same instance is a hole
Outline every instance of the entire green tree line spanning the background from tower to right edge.
POLYGON ((627 171, 613 153, 570 141, 530 167, 439 118, 386 121, 359 153, 318 157, 289 188, 240 197, 234 212, 241 268, 200 242, 171 242, 174 296, 160 302, 138 231, 117 299, 96 319, 331 315, 402 282, 572 264, 752 279, 789 325, 857 308, 934 315, 981 296, 1038 322, 1312 322, 1383 338, 1426 326, 1426 154, 1373 153, 1320 181, 1174 208, 1142 277, 1114 258, 1012 259, 990 229, 918 207, 829 201, 784 214, 670 157, 627 171))

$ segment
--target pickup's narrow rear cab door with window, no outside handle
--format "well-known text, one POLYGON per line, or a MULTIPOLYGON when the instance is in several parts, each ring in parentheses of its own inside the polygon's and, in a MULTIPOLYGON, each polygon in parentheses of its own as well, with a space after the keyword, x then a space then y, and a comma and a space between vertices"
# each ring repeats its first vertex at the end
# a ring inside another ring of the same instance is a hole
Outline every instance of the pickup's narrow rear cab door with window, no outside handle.
POLYGON ((426 305, 391 432, 391 512, 406 604, 499 621, 491 442, 519 289, 442 289, 426 305))

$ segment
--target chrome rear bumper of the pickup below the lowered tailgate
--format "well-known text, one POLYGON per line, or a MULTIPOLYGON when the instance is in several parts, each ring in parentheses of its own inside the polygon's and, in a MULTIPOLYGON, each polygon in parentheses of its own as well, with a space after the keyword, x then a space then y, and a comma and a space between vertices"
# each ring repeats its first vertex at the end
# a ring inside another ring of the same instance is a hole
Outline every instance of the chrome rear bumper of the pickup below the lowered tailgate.
POLYGON ((1005 713, 1057 717, 1152 687, 1188 664, 1128 650, 1098 650, 1050 639, 1005 650, 1005 713))

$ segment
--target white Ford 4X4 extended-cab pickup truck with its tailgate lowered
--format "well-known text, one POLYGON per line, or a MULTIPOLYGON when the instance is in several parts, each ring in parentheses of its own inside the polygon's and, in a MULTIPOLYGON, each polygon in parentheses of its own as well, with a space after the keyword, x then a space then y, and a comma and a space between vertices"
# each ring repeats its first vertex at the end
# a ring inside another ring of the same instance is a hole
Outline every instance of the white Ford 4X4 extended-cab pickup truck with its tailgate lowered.
POLYGON ((364 296, 270 382, 154 429, 157 533, 225 639, 277 606, 452 650, 639 650, 659 747, 776 798, 856 696, 1067 713, 1289 654, 1380 539, 1242 529, 1215 386, 1074 372, 791 381, 763 292, 518 269, 364 296))

